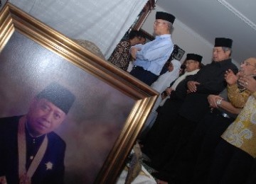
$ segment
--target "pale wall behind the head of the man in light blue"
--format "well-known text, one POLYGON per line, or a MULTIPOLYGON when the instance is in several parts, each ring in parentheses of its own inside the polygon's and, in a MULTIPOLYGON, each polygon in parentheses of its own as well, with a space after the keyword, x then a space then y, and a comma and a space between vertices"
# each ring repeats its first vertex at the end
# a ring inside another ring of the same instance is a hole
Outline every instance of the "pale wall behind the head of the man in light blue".
MULTIPOLYGON (((150 34, 154 33, 153 25, 155 21, 156 11, 165 10, 160 6, 156 5, 156 8, 153 11, 151 11, 148 18, 146 18, 146 21, 142 25, 142 29, 146 30, 146 32, 150 34)), ((188 28, 186 25, 181 23, 181 21, 178 21, 177 17, 176 20, 174 21, 174 30, 171 33, 171 38, 174 44, 178 45, 178 47, 181 47, 181 49, 185 50, 185 54, 181 58, 181 62, 183 62, 183 60, 186 59, 186 54, 188 53, 202 55, 203 64, 208 64, 212 61, 212 50, 214 40, 213 43, 204 40, 203 38, 201 38, 200 35, 198 35, 193 30, 188 28)))

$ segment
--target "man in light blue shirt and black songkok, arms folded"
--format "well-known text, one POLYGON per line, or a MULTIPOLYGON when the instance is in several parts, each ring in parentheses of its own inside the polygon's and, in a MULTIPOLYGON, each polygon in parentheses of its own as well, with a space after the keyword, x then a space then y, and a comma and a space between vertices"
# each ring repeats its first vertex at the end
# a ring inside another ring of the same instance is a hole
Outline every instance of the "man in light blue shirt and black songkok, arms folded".
POLYGON ((156 21, 154 21, 156 39, 145 45, 134 45, 131 48, 135 61, 130 74, 149 86, 159 77, 161 69, 174 50, 171 40, 174 20, 175 17, 169 13, 156 12, 156 21))

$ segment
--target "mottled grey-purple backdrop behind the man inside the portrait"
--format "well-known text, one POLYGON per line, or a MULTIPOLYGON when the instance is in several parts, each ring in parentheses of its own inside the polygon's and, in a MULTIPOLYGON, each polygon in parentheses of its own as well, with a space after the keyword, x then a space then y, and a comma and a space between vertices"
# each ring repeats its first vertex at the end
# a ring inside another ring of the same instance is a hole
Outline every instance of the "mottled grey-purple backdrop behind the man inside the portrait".
POLYGON ((26 114, 33 97, 52 81, 76 96, 55 131, 67 144, 65 183, 93 183, 135 100, 14 32, 0 53, 0 117, 26 114))

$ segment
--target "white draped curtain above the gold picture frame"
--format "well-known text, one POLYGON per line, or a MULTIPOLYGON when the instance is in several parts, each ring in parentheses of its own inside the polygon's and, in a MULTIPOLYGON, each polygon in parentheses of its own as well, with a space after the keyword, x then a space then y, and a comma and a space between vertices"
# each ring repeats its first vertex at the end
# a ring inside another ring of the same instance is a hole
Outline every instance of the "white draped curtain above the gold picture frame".
POLYGON ((9 0, 68 38, 88 40, 109 58, 147 0, 9 0))

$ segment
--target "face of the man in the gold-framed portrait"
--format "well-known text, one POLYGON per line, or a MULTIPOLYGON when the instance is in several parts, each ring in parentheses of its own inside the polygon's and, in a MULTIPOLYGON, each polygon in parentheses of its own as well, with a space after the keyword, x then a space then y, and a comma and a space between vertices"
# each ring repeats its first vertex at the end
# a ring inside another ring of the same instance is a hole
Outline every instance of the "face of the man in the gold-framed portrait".
POLYGON ((35 98, 27 117, 29 132, 36 137, 55 130, 63 122, 66 114, 45 98, 35 98))

